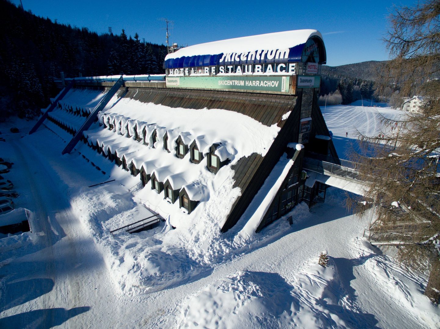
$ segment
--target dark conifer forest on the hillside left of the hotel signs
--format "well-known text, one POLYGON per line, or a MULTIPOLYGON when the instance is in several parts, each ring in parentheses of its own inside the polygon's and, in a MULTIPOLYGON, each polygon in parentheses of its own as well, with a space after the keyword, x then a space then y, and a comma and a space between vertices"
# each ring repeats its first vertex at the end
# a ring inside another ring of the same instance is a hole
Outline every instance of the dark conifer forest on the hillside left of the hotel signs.
POLYGON ((0 0, 0 120, 32 118, 58 94, 53 80, 114 74, 161 74, 166 46, 127 36, 98 35, 52 22, 0 0))

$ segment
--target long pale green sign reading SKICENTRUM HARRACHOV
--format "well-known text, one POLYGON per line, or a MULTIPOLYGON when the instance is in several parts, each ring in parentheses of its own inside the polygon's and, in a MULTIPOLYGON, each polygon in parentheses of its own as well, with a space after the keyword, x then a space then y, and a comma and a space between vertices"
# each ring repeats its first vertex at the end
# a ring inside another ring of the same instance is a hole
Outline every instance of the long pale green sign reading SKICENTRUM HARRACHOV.
POLYGON ((180 76, 166 77, 167 87, 252 90, 289 93, 290 76, 180 76))

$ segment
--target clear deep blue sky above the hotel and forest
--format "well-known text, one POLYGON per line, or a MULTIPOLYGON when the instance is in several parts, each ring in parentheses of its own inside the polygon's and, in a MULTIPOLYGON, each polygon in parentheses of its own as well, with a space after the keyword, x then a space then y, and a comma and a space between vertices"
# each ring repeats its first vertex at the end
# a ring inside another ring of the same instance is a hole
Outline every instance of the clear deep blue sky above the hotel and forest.
MULTIPOLYGON (((20 4, 20 0, 12 0, 20 4)), ((99 34, 127 35, 165 44, 165 22, 174 21, 171 42, 197 44, 215 40, 295 29, 323 34, 327 65, 337 66, 389 59, 381 38, 392 4, 369 1, 114 1, 22 0, 25 10, 59 23, 87 27, 99 34)))

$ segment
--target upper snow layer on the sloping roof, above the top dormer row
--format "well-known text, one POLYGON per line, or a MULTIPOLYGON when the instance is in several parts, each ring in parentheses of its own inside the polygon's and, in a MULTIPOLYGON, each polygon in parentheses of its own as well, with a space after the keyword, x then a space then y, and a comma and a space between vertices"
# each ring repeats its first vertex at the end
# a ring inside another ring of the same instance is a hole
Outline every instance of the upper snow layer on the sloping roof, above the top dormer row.
MULTIPOLYGON (((225 142, 227 151, 235 155, 231 159, 232 164, 242 156, 252 153, 264 156, 280 130, 276 125, 267 127, 241 113, 224 109, 170 108, 128 98, 121 99, 108 112, 110 123, 111 118, 117 116, 147 122, 143 129, 146 129, 148 138, 157 129, 161 141, 167 132, 170 151, 175 147, 170 144, 179 136, 188 146, 196 140, 199 151, 203 153, 207 152, 207 147, 225 142)), ((106 114, 105 112, 102 115, 106 114)), ((116 123, 116 129, 121 130, 118 121, 116 123)), ((138 133, 141 134, 142 131, 138 130, 138 133)), ((162 141, 160 146, 163 147, 162 141)))

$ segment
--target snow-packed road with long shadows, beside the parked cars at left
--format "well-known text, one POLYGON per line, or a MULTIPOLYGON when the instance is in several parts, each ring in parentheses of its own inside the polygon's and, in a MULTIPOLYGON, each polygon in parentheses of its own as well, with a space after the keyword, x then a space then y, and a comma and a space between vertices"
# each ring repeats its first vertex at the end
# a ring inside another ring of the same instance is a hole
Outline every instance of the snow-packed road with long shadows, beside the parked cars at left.
POLYGON ((118 310, 104 315, 103 305, 95 303, 113 303, 119 296, 101 253, 70 212, 65 188, 31 146, 21 139, 11 145, 16 159, 13 170, 26 177, 31 192, 29 208, 37 219, 33 232, 39 243, 31 253, 2 263, 0 275, 7 279, 0 327, 8 323, 8 327, 51 328, 66 322, 68 327, 87 328, 103 317, 116 325, 118 310))

